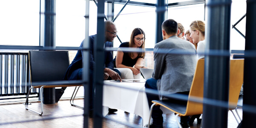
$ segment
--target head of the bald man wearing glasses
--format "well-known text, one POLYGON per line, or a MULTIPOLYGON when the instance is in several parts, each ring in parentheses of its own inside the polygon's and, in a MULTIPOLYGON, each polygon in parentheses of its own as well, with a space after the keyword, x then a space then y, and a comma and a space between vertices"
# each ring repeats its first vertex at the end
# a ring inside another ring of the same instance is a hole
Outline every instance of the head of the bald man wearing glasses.
POLYGON ((110 20, 106 20, 105 22, 105 41, 113 42, 116 37, 116 25, 110 20))

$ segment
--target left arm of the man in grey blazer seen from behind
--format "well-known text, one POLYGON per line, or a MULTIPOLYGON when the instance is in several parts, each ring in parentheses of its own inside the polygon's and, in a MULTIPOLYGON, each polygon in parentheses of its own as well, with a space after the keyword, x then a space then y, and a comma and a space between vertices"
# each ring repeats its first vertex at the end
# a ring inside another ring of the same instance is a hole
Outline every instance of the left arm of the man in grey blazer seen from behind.
POLYGON ((158 45, 155 45, 154 47, 154 72, 152 73, 153 79, 160 79, 163 75, 163 71, 165 68, 165 55, 163 53, 157 53, 161 49, 158 47, 158 45))

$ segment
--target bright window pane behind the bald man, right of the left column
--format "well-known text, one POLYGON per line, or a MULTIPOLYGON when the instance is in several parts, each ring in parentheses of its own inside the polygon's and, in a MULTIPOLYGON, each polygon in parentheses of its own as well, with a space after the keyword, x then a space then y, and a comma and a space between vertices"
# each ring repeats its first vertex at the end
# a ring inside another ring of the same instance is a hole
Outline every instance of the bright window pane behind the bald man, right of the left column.
MULTIPOLYGON (((56 46, 80 46, 85 37, 85 6, 85 0, 56 0, 56 46)), ((97 6, 93 1, 89 13, 89 35, 94 35, 97 6)))

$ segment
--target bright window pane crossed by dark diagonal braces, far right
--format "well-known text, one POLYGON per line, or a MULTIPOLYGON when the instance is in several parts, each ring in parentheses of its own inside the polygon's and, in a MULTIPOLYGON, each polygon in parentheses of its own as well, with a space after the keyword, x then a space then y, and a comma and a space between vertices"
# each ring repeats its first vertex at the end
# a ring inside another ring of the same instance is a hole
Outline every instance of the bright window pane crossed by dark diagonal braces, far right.
MULTIPOLYGON (((246 1, 233 0, 231 5, 231 25, 234 25, 241 17, 246 14, 246 1)), ((245 35, 246 17, 241 20, 236 28, 245 35)), ((244 50, 245 38, 241 36, 235 29, 230 32, 230 49, 231 50, 244 50)))

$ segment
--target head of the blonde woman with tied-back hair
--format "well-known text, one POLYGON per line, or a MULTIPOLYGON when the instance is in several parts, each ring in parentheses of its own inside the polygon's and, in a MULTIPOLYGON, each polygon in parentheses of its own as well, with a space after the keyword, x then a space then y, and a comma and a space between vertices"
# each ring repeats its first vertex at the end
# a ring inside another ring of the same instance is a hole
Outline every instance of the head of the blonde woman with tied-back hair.
POLYGON ((204 28, 205 23, 201 20, 195 20, 190 24, 189 32, 194 44, 204 40, 204 28))

